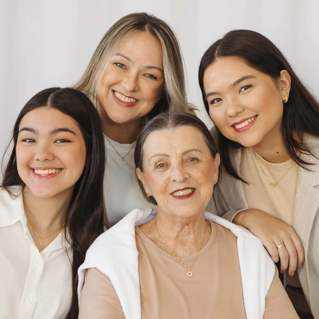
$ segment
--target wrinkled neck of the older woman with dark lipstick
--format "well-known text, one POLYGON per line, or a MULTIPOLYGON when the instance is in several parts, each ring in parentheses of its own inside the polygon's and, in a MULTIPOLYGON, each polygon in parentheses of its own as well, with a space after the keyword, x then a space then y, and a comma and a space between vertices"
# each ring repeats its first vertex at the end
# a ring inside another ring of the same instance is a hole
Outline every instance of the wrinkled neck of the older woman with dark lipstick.
POLYGON ((211 236, 210 224, 205 222, 205 212, 191 218, 180 218, 161 213, 159 210, 156 220, 151 220, 146 227, 140 228, 156 245, 169 254, 172 252, 163 244, 155 229, 155 221, 160 236, 180 258, 197 253, 201 248, 201 243, 203 242, 202 247, 204 247, 211 236))

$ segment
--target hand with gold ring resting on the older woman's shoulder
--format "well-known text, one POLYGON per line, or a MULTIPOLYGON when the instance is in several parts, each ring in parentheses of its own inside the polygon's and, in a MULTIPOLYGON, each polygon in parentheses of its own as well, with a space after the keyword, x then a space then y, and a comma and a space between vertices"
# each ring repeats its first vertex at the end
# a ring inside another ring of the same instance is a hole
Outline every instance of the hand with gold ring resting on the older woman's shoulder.
POLYGON ((258 237, 268 250, 274 263, 280 258, 280 272, 293 276, 297 267, 304 262, 304 250, 299 236, 292 226, 283 221, 271 217, 259 209, 246 209, 239 212, 233 219, 233 223, 247 228, 258 237), (278 246, 285 245, 277 249, 278 246))

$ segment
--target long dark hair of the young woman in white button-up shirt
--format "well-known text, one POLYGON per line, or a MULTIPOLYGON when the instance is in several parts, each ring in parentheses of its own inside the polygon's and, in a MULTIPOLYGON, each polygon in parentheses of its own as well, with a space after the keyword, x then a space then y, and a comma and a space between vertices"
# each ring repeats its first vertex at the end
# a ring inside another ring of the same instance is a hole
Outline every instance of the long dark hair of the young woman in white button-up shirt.
POLYGON ((72 247, 72 302, 67 319, 78 318, 78 268, 93 241, 103 233, 107 224, 103 199, 105 169, 104 138, 100 116, 89 98, 72 88, 54 87, 35 94, 21 110, 13 128, 13 149, 4 171, 2 187, 11 195, 10 186, 25 188, 17 169, 16 146, 22 118, 35 108, 50 107, 69 115, 78 124, 86 148, 84 170, 76 182, 65 221, 65 239, 72 247))

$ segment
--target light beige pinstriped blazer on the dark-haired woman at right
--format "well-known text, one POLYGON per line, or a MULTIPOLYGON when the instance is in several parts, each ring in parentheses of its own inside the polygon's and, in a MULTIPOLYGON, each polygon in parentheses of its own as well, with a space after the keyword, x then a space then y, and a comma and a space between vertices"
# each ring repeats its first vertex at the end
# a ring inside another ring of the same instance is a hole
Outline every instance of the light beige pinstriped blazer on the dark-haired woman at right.
MULTIPOLYGON (((319 319, 319 139, 306 137, 315 155, 302 154, 301 159, 313 165, 299 168, 293 215, 293 228, 305 251, 305 263, 298 270, 300 283, 315 319, 319 319)), ((232 164, 239 172, 241 149, 232 154, 232 164)), ((207 211, 232 221, 236 213, 248 204, 242 182, 230 176, 222 167, 222 178, 214 189, 207 211)))

